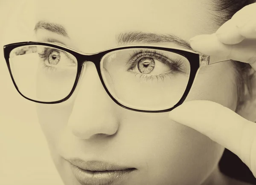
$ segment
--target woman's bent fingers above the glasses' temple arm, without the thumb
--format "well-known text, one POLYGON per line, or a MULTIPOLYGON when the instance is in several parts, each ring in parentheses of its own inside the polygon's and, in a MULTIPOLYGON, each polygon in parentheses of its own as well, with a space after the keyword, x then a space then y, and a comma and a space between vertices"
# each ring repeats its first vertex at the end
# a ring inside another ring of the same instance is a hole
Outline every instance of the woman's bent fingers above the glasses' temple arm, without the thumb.
POLYGON ((214 34, 191 38, 191 47, 250 65, 256 70, 256 3, 245 6, 214 34))

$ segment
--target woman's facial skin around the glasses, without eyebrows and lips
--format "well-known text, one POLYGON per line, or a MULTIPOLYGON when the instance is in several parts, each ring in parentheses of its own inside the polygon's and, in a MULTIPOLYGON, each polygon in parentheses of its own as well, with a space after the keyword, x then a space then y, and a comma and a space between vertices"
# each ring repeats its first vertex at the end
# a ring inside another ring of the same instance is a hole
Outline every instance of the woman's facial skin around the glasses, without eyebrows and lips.
MULTIPOLYGON (((85 53, 116 47, 116 37, 131 31, 174 34, 189 40, 218 28, 214 12, 209 11, 211 4, 212 0, 38 1, 37 21, 61 24, 69 37, 40 27, 36 37, 40 41, 56 40, 85 53)), ((175 40, 151 44, 183 48, 175 40)), ((186 101, 211 100, 235 110, 235 82, 231 62, 204 67, 186 101)), ((37 112, 52 158, 67 185, 83 184, 84 178, 73 173, 70 159, 136 168, 113 184, 200 184, 224 150, 208 137, 169 120, 168 113, 135 112, 116 105, 92 63, 69 100, 37 104, 37 112)), ((89 181, 85 184, 94 185, 89 181)))

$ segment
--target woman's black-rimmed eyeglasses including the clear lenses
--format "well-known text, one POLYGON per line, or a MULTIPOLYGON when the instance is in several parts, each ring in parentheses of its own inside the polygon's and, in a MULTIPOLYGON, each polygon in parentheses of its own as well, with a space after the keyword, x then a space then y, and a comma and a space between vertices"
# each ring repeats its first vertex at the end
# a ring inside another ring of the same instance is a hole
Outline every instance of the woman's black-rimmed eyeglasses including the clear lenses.
POLYGON ((81 71, 92 62, 111 99, 140 112, 166 112, 181 105, 198 69, 209 65, 209 56, 204 54, 141 45, 84 54, 48 42, 21 42, 4 46, 4 57, 15 88, 28 100, 66 101, 75 91, 81 71))

